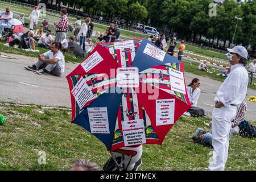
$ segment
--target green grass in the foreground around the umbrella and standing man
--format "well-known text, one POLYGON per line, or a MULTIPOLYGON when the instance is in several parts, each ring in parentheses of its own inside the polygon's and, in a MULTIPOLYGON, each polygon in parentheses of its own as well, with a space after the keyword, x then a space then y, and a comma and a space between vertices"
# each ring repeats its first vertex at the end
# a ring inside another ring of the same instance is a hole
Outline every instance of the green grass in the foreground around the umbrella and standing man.
MULTIPOLYGON (((77 158, 103 166, 110 157, 104 144, 82 127, 71 124, 68 109, 16 106, 1 102, 0 170, 69 170, 77 158), (46 165, 38 164, 39 151, 46 165)), ((207 118, 181 117, 162 146, 144 145, 141 170, 207 170, 212 148, 192 142, 197 127, 209 129, 207 118)), ((255 123, 255 122, 254 122, 255 123)), ((255 170, 255 139, 232 136, 227 170, 255 170)))

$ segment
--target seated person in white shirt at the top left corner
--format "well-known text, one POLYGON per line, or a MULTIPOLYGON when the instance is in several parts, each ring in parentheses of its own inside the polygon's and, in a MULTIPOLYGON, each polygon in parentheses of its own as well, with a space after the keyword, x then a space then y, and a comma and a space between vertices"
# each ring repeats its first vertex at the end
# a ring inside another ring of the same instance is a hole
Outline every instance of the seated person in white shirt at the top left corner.
POLYGON ((3 28, 11 28, 13 21, 13 12, 10 7, 6 7, 5 11, 0 14, 0 38, 2 37, 3 28))

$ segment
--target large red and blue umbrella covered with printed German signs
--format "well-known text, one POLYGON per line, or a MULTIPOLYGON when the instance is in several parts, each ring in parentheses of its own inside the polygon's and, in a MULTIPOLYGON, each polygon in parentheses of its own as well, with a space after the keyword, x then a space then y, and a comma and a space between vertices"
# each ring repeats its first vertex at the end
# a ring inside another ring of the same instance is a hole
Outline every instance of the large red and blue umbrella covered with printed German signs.
POLYGON ((72 122, 95 135, 111 151, 137 144, 162 144, 190 104, 186 89, 181 92, 183 64, 159 50, 143 39, 131 64, 120 68, 113 55, 98 45, 67 76, 72 122), (94 60, 95 52, 102 61, 94 60))

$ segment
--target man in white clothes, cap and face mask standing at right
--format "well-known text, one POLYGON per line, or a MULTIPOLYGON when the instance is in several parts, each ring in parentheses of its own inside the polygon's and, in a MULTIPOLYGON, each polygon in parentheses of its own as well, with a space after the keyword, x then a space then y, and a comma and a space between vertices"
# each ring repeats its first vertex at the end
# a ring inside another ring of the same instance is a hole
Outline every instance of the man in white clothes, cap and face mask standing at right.
POLYGON ((209 170, 224 171, 228 159, 229 133, 232 119, 236 117, 237 107, 245 99, 248 85, 248 73, 245 69, 248 52, 245 47, 228 48, 226 54, 230 61, 229 76, 222 83, 214 98, 212 113, 213 160, 209 170))

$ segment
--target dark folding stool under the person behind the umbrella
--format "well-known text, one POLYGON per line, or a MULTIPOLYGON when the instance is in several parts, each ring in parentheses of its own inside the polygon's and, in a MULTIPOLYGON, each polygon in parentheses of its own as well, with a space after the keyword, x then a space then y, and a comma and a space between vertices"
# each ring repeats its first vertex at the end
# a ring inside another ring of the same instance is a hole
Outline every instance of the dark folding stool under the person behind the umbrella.
MULTIPOLYGON (((117 149, 109 152, 111 154, 111 157, 105 163, 103 167, 104 171, 126 171, 127 167, 125 168, 125 162, 131 160, 131 158, 137 154, 137 151, 122 149, 117 149), (122 156, 114 155, 113 152, 118 152, 122 154, 122 156), (125 155, 128 156, 126 159, 125 155)), ((129 164, 127 166, 129 166, 129 164)))

